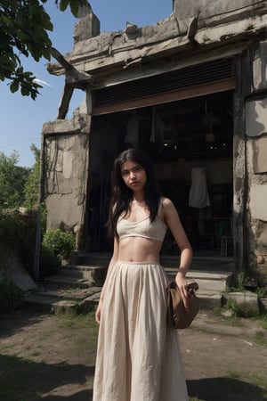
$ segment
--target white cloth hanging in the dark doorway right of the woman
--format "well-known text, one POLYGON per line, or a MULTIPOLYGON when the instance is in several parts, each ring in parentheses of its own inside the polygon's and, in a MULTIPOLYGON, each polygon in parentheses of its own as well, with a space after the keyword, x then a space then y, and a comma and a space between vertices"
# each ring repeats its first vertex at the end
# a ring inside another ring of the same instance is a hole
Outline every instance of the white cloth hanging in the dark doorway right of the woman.
POLYGON ((210 206, 205 168, 192 168, 191 179, 189 206, 198 209, 210 206))

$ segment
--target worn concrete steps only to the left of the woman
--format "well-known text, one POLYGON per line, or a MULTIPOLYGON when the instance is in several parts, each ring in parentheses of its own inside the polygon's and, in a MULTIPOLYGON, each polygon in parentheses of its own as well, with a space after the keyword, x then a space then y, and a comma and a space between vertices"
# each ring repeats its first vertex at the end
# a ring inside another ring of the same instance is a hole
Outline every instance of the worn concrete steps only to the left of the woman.
POLYGON ((108 264, 108 256, 96 259, 75 254, 69 265, 60 267, 58 274, 46 276, 36 291, 25 297, 24 305, 55 314, 93 310, 99 301, 108 264))

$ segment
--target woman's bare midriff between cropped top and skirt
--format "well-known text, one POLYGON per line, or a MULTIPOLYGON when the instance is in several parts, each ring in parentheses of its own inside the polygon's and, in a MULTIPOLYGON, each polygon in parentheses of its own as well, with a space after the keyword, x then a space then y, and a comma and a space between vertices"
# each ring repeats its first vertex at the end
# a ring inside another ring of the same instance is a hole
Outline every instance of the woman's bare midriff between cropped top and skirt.
POLYGON ((125 262, 158 262, 161 242, 142 237, 119 240, 118 260, 125 262))

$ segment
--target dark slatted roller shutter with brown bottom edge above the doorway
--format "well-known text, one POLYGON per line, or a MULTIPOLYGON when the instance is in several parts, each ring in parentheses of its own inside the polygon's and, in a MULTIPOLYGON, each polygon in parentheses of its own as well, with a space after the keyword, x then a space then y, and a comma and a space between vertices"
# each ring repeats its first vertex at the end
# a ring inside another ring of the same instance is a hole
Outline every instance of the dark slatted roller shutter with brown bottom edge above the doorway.
POLYGON ((104 87, 93 92, 93 114, 152 106, 234 89, 231 58, 104 87))

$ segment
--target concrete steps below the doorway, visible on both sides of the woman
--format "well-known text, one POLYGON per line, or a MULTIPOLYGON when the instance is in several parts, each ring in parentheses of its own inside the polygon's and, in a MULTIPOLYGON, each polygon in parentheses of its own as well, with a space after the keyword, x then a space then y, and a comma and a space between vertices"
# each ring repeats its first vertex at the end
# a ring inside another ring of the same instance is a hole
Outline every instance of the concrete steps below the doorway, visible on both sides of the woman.
MULTIPOLYGON (((25 297, 27 307, 49 313, 67 313, 72 310, 93 310, 98 303, 110 254, 74 254, 59 273, 45 277, 37 290, 25 297)), ((174 279, 179 257, 161 258, 166 274, 174 279)), ((187 274, 188 282, 198 282, 198 299, 202 309, 213 309, 222 304, 223 291, 231 286, 233 261, 230 258, 194 258, 187 274)))

